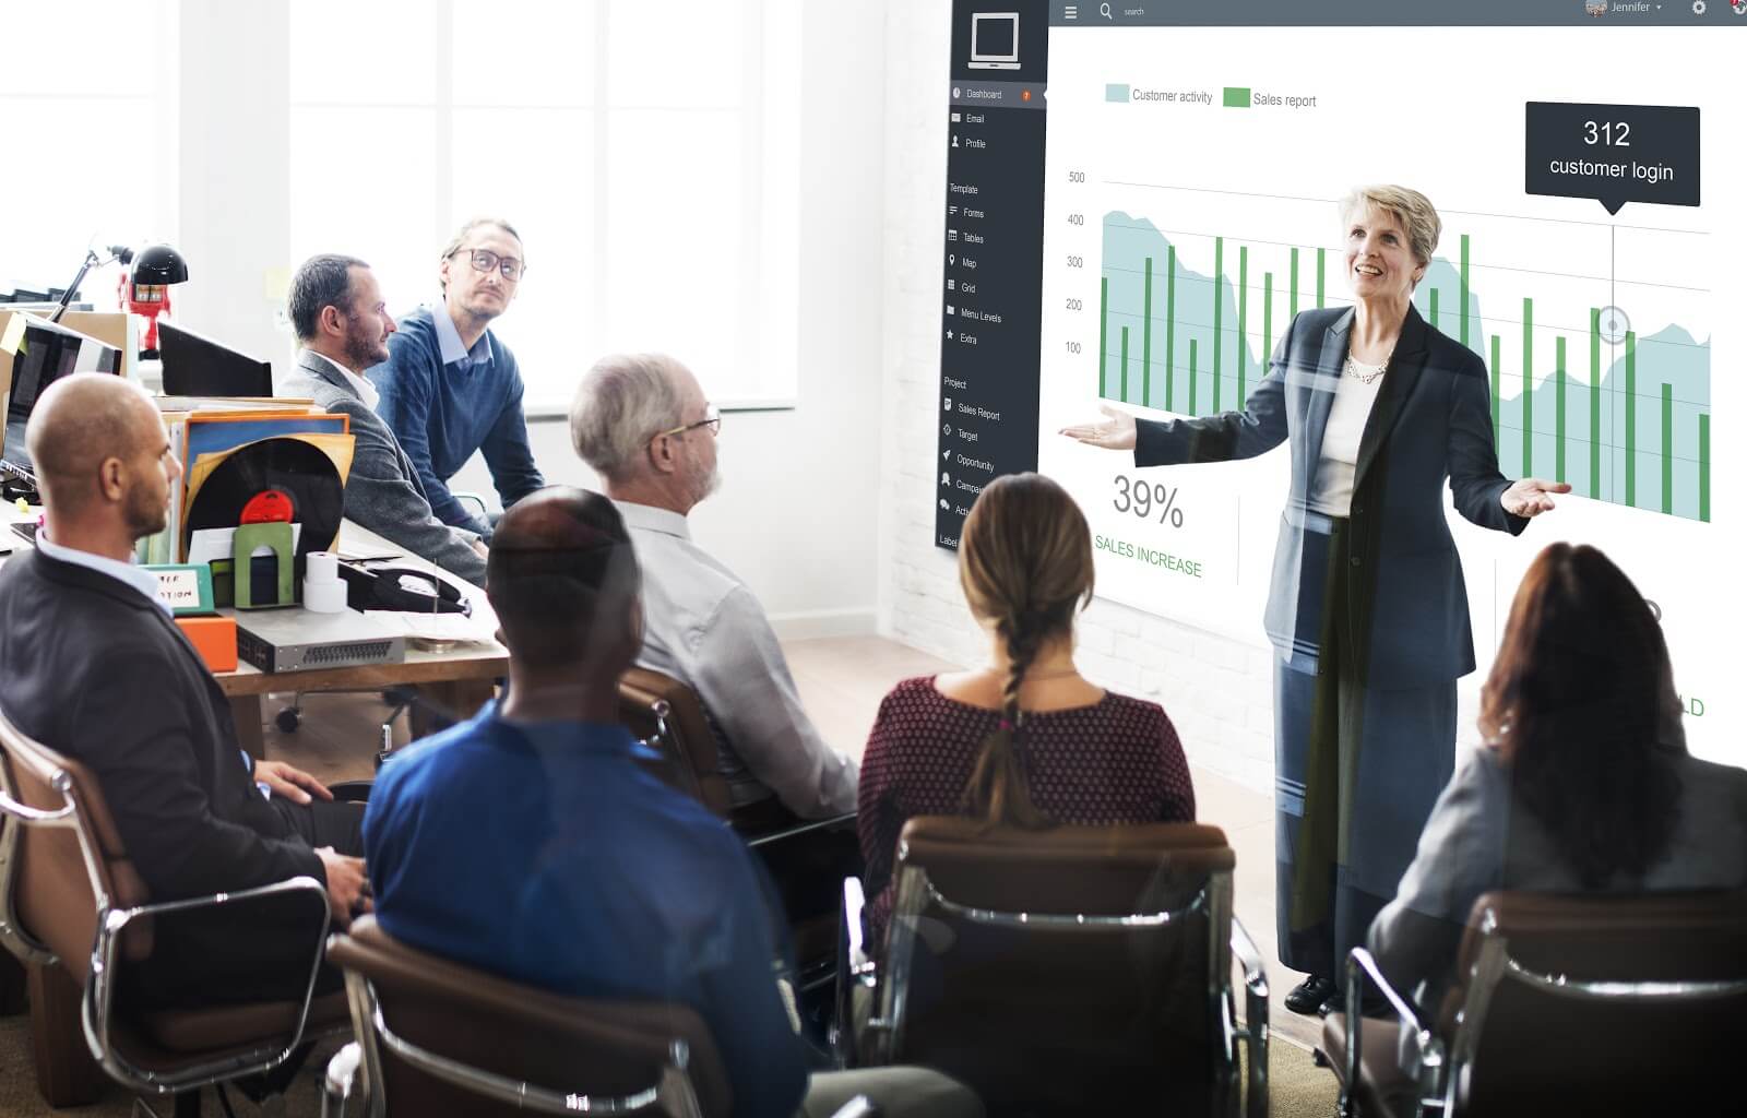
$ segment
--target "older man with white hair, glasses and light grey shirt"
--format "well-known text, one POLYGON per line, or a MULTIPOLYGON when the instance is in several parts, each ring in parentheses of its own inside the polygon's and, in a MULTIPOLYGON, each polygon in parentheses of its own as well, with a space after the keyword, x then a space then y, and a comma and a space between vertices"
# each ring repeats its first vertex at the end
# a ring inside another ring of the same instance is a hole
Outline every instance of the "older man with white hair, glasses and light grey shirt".
POLYGON ((643 566, 638 664, 699 694, 735 805, 776 795, 805 819, 851 812, 856 767, 807 718, 763 606, 692 542, 687 514, 716 487, 720 430, 697 377, 666 355, 603 358, 577 390, 571 442, 643 566))

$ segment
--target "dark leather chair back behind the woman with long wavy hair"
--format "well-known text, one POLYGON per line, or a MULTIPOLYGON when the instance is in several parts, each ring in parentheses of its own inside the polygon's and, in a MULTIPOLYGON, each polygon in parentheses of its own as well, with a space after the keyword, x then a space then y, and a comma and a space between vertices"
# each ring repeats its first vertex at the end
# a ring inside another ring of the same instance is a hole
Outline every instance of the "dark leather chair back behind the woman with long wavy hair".
POLYGON ((1747 1048, 1747 891, 1488 893, 1457 973, 1445 1003, 1462 1004, 1457 1113, 1682 1113, 1682 1097, 1735 1092, 1730 1069, 1747 1048), (1618 985, 1592 992, 1590 982, 1618 985))

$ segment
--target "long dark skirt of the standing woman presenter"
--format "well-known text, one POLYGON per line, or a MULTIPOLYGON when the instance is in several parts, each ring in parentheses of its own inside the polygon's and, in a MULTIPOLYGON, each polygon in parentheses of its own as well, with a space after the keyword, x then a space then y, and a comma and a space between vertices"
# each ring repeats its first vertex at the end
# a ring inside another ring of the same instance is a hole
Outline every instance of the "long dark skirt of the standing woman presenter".
POLYGON ((1315 655, 1274 671, 1275 919, 1282 964, 1336 978, 1394 898, 1450 781, 1455 681, 1403 690, 1361 681, 1347 521, 1305 531, 1300 585, 1296 629, 1315 634, 1315 655))

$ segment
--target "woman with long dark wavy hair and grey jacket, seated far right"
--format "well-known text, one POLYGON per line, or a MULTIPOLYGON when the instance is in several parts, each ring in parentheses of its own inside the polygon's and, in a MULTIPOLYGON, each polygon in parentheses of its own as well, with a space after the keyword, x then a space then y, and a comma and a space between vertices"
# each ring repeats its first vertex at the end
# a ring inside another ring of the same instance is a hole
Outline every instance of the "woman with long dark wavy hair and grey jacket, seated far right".
POLYGON ((1443 790, 1370 943, 1436 1006, 1490 889, 1649 893, 1747 886, 1747 770, 1686 753, 1668 646, 1593 547, 1543 550, 1481 690, 1474 751, 1443 790))

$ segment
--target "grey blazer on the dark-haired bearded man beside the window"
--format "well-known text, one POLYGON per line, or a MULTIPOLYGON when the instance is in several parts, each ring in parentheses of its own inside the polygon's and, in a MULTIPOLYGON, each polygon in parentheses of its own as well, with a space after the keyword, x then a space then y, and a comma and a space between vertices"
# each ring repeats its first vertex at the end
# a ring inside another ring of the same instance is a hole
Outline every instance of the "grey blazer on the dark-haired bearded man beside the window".
POLYGON ((351 418, 346 519, 477 587, 486 585, 486 561, 473 550, 479 536, 437 519, 400 440, 327 358, 299 349, 297 372, 280 386, 280 395, 304 397, 351 418))

